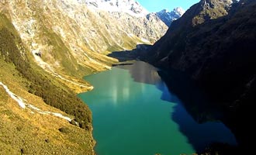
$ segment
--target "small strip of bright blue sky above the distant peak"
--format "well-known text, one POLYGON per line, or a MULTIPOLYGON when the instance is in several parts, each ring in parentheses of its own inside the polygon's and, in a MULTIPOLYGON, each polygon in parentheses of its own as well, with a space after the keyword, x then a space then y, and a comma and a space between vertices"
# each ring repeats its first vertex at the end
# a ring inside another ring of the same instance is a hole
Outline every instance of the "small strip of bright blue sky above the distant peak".
POLYGON ((182 7, 182 9, 187 10, 199 0, 137 0, 137 2, 149 12, 159 12, 162 9, 172 11, 176 7, 182 7))

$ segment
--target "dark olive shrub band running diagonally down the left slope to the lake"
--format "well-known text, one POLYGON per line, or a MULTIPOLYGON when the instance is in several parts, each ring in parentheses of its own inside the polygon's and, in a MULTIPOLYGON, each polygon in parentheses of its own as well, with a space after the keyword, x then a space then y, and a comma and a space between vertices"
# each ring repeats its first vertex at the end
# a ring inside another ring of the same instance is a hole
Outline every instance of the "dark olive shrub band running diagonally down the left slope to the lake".
POLYGON ((29 93, 40 96, 48 105, 61 109, 74 119, 83 129, 89 129, 92 112, 73 91, 43 71, 31 59, 32 54, 23 47, 18 33, 5 15, 0 14, 0 58, 16 66, 22 77, 25 77, 29 93))

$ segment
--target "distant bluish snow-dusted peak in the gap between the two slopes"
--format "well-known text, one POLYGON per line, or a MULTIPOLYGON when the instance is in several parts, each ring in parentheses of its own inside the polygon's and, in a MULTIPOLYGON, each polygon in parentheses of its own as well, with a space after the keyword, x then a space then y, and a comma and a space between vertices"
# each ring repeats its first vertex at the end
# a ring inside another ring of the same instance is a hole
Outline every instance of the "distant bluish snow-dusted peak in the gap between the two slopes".
POLYGON ((171 26, 171 22, 179 19, 184 13, 185 11, 182 8, 175 8, 171 12, 168 12, 167 9, 163 9, 156 14, 167 26, 171 26))

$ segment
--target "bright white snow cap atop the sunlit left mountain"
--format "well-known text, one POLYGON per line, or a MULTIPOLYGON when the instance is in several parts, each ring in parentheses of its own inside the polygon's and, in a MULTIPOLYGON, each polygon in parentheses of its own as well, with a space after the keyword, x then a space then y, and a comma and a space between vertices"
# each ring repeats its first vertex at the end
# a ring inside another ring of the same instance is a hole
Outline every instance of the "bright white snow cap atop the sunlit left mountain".
POLYGON ((135 16, 144 16, 149 13, 134 0, 78 0, 78 2, 88 5, 89 8, 107 12, 126 12, 135 16))

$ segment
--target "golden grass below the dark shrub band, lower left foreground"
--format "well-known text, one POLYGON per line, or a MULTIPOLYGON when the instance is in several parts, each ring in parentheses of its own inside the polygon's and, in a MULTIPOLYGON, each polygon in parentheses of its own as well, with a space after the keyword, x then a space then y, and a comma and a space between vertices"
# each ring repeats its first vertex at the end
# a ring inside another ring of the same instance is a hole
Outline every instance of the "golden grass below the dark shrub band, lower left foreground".
MULTIPOLYGON (((26 80, 12 64, 0 59, 0 81, 9 89, 43 111, 61 112, 29 94, 26 80)), ((71 117, 71 116, 70 116, 71 117)), ((71 125, 54 115, 42 115, 29 108, 22 109, 0 87, 0 154, 94 154, 92 133, 71 125), (67 127, 70 133, 58 129, 67 127)))

